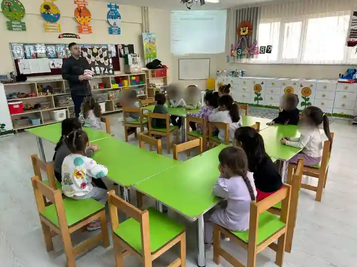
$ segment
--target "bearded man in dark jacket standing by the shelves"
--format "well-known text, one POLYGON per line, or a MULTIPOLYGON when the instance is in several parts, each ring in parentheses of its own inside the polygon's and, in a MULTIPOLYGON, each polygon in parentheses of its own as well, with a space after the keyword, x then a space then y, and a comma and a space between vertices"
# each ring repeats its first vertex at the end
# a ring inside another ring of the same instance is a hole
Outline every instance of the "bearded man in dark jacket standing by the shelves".
POLYGON ((81 57, 81 48, 76 43, 68 45, 71 56, 63 60, 62 78, 68 81, 71 97, 74 104, 74 113, 79 117, 84 98, 91 95, 88 80, 83 76, 84 70, 90 70, 88 61, 81 57))

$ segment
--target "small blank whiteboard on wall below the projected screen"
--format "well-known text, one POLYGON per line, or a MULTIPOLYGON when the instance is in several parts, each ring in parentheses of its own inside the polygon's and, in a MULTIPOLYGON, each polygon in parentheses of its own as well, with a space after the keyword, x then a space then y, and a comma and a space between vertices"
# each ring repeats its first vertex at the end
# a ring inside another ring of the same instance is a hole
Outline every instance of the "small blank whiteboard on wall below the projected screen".
POLYGON ((206 80, 209 69, 209 58, 179 59, 179 80, 206 80))

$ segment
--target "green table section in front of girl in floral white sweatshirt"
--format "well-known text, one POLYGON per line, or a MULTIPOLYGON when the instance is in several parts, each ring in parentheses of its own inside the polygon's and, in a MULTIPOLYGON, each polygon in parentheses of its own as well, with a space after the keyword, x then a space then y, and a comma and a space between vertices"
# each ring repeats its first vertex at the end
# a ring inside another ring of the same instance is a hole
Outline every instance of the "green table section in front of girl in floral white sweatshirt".
POLYGON ((98 151, 94 153, 93 159, 108 168, 108 178, 123 186, 125 200, 128 200, 127 190, 133 184, 179 164, 179 161, 172 158, 150 152, 113 137, 92 143, 98 145, 98 151))

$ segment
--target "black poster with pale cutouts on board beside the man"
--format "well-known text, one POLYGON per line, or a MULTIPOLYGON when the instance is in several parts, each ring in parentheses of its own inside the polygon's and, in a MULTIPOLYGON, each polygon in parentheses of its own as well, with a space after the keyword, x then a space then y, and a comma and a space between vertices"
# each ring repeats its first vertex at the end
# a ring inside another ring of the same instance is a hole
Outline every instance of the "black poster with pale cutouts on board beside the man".
POLYGON ((94 75, 114 74, 112 53, 108 48, 82 48, 82 56, 87 59, 94 75))

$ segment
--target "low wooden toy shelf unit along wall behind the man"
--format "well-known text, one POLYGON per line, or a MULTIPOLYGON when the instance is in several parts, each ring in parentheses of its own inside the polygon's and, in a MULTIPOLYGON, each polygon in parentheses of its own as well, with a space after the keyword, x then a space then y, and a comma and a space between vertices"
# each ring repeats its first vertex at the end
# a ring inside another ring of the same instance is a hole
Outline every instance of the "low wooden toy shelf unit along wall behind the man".
MULTIPOLYGON (((140 74, 123 74, 123 75, 111 75, 111 76, 94 76, 93 80, 90 81, 91 87, 94 84, 103 83, 104 89, 94 89, 93 95, 96 93, 108 92, 108 91, 119 91, 119 95, 122 91, 127 89, 135 89, 142 87, 143 92, 142 94, 138 95, 138 99, 147 99, 147 86, 146 86, 146 75, 145 73, 140 74), (118 87, 118 88, 111 88, 112 81, 115 81, 116 77, 123 78, 124 80, 129 81, 131 76, 139 76, 140 81, 143 82, 142 85, 129 85, 127 87, 118 87)), ((10 94, 12 92, 24 92, 24 93, 35 93, 36 96, 33 97, 24 97, 24 98, 17 98, 17 99, 8 99, 7 102, 16 102, 21 101, 23 105, 31 104, 35 105, 37 103, 51 103, 49 108, 41 108, 41 109, 32 109, 32 110, 24 110, 23 113, 18 114, 11 114, 12 126, 13 129, 16 130, 23 130, 27 128, 32 128, 36 126, 42 126, 47 124, 56 123, 56 121, 51 119, 50 111, 51 110, 58 110, 58 109, 65 109, 67 113, 67 118, 74 117, 74 106, 67 105, 67 106, 57 106, 56 105, 56 97, 67 95, 70 97, 69 85, 68 82, 65 80, 42 80, 36 82, 23 82, 23 83, 13 83, 13 84, 4 84, 5 94, 10 94), (46 88, 47 86, 51 86, 56 93, 50 95, 40 95, 38 91, 38 86, 43 86, 46 88), (29 118, 40 118, 41 124, 40 125, 32 125, 30 121, 28 123, 24 123, 21 121, 21 117, 29 117, 29 118)), ((121 108, 117 107, 117 103, 119 102, 119 97, 117 99, 108 99, 106 102, 106 110, 103 114, 113 113, 122 111, 121 108)))

